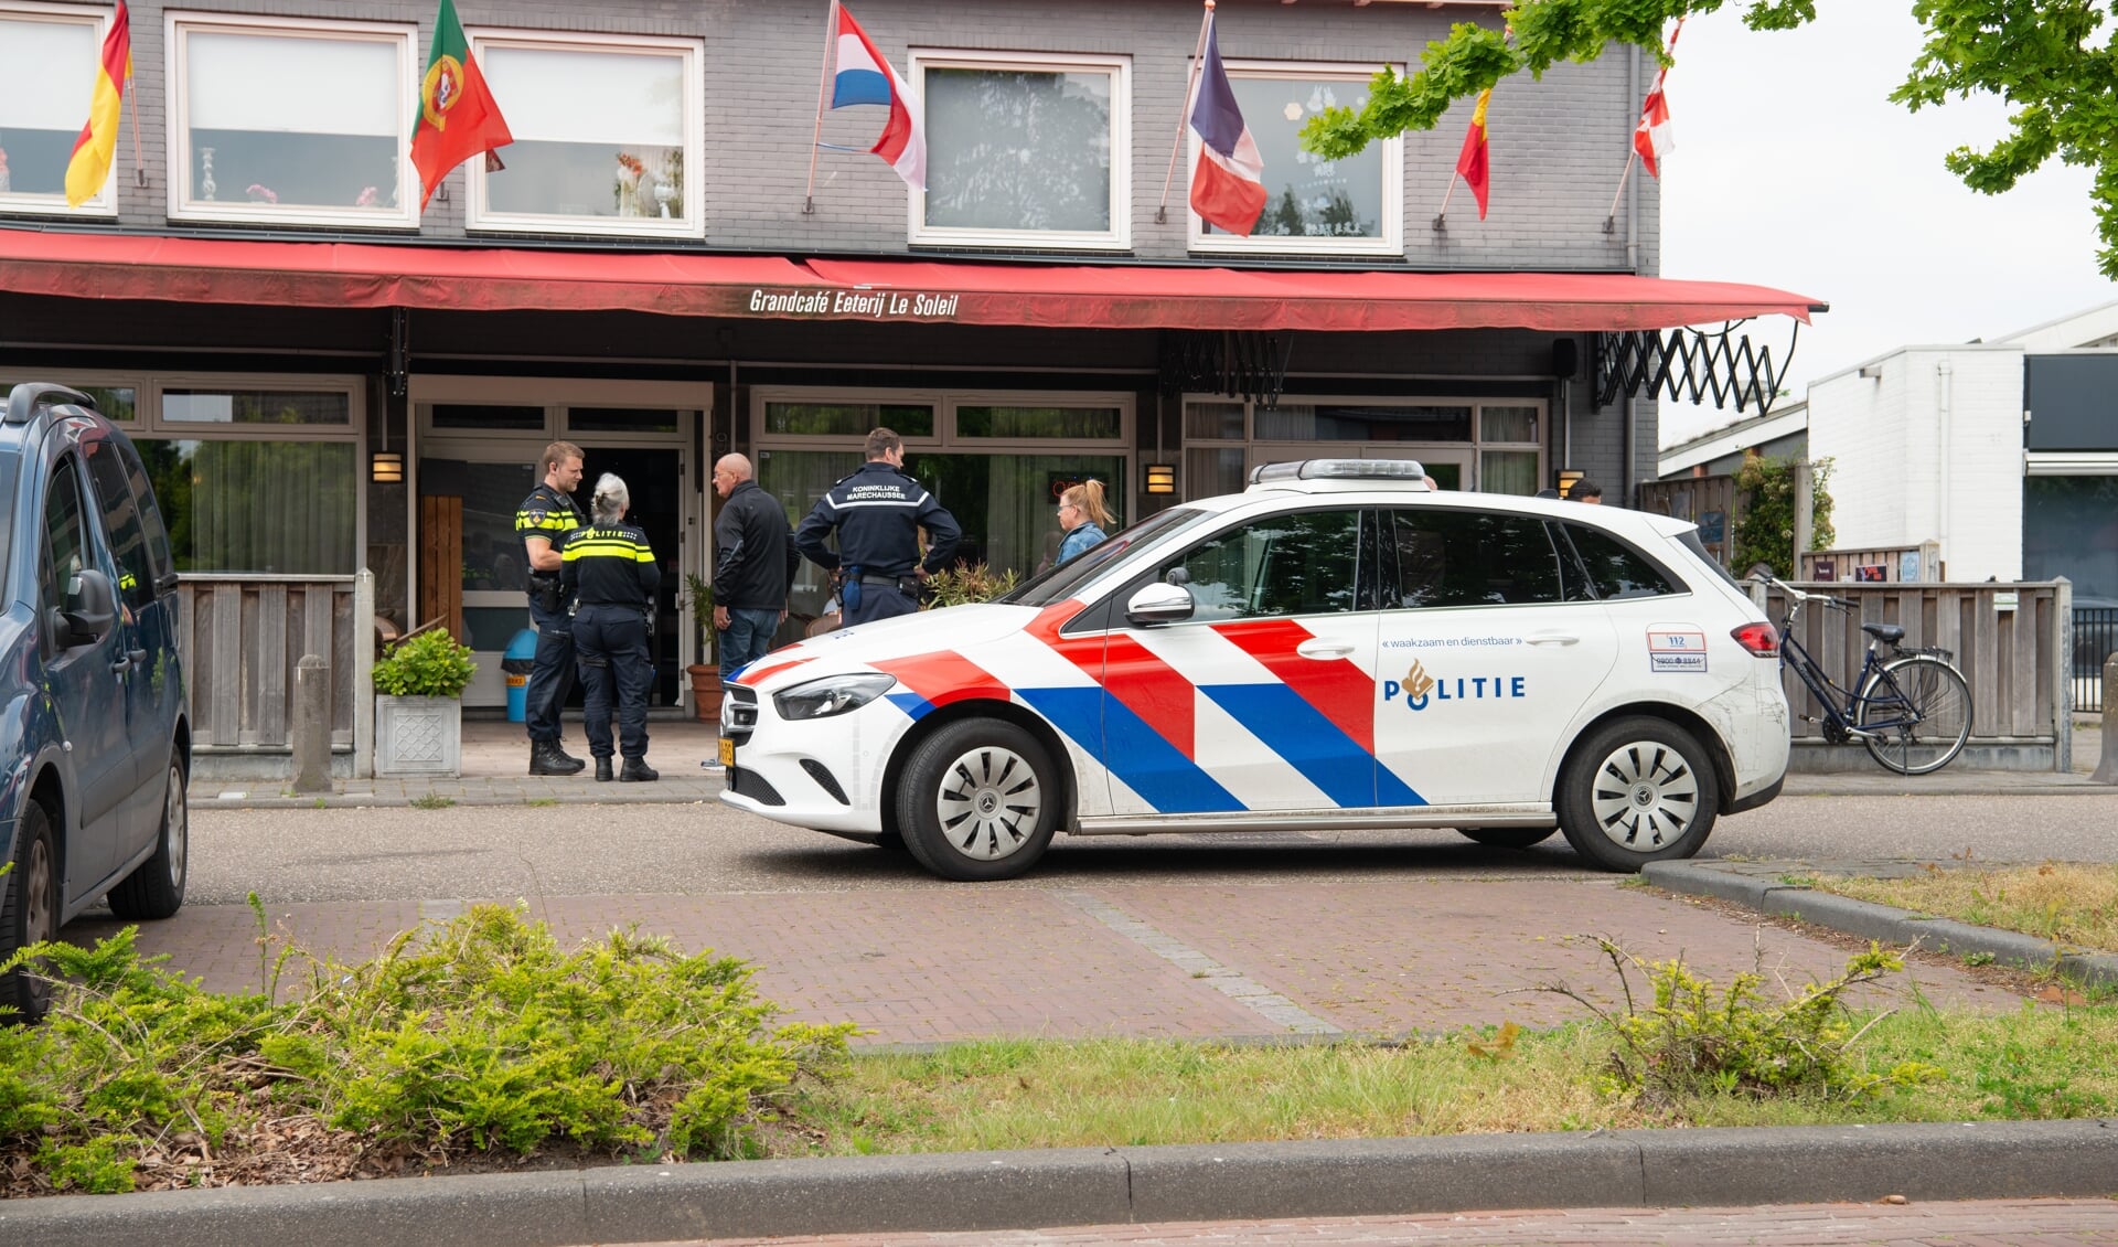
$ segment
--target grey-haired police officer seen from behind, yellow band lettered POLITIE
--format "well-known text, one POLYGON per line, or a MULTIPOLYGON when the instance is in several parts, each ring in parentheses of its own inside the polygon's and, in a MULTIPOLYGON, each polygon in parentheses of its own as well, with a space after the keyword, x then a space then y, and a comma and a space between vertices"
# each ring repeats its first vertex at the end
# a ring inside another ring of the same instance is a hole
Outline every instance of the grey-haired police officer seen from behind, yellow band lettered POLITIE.
POLYGON ((618 749, 625 754, 621 783, 659 779, 648 766, 648 612, 661 589, 661 567, 648 536, 625 523, 631 493, 625 481, 604 472, 589 508, 595 525, 574 529, 561 550, 568 597, 574 608, 574 654, 580 658, 582 726, 595 754, 595 777, 610 779, 610 701, 618 703, 618 749))

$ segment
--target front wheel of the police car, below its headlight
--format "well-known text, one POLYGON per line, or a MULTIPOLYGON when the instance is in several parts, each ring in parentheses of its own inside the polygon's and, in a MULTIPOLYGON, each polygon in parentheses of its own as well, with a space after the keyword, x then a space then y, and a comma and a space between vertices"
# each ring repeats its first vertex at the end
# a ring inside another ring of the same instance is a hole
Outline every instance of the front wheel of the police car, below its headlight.
POLYGON ((898 785, 904 847, 943 879, 1015 879, 1059 826, 1051 756, 1002 720, 953 722, 913 747, 898 785))

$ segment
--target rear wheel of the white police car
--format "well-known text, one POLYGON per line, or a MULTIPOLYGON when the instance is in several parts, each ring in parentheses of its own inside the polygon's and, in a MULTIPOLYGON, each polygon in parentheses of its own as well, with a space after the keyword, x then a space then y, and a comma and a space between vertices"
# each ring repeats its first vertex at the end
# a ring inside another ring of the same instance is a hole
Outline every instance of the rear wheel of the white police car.
POLYGON ((1718 794, 1707 752, 1658 718, 1603 724, 1559 777, 1559 830, 1603 870, 1690 857, 1713 830, 1718 794))

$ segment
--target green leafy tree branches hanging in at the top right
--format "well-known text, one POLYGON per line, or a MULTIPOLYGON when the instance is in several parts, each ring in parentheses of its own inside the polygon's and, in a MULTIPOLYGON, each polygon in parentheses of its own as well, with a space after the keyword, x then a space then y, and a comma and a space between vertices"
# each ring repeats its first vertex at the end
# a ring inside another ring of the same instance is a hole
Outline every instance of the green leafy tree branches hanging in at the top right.
MULTIPOLYGON (((1874 0, 1845 0, 1849 4, 1874 0)), ((1561 61, 1588 64, 1616 47, 1637 47, 1675 64, 1667 30, 1682 17, 1716 13, 1726 0, 1516 0, 1504 30, 1459 21, 1432 40, 1413 74, 1383 68, 1368 104, 1326 108, 1303 127, 1303 148, 1349 157, 1408 129, 1434 129, 1457 100, 1529 72, 1542 80, 1561 61)), ((1993 95, 2008 106, 2008 133, 1987 148, 1959 146, 1951 174, 1985 195, 2010 191, 2059 159, 2093 171, 2097 267, 2118 277, 2118 47, 2105 32, 2105 0, 1913 0, 1925 44, 1889 100, 1908 112, 1993 95)), ((1815 0, 1752 0, 1743 25, 1794 30, 1817 15, 1815 0)))

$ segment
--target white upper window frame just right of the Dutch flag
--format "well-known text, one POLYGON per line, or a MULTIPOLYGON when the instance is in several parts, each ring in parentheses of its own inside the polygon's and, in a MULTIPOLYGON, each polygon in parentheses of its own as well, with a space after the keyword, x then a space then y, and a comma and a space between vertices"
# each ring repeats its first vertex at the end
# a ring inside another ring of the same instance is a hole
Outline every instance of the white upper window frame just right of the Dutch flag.
POLYGON ((921 133, 928 138, 928 169, 934 167, 932 129, 926 125, 926 72, 945 70, 1023 70, 1023 72, 1108 72, 1110 74, 1110 229, 972 229, 930 227, 926 222, 926 191, 911 188, 904 197, 907 239, 911 246, 995 248, 995 250, 1067 250, 1127 252, 1133 248, 1133 57, 1125 53, 1019 53, 983 49, 911 49, 904 78, 913 89, 911 106, 919 110, 921 133))

